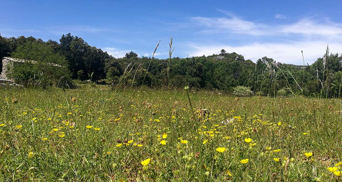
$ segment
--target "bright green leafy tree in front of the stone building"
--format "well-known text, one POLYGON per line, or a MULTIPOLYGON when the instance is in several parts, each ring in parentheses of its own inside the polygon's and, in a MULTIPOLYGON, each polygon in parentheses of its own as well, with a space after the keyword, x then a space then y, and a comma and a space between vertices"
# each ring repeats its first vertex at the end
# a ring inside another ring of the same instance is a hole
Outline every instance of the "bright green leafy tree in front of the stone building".
POLYGON ((34 86, 56 86, 63 79, 69 79, 69 70, 64 56, 54 53, 47 44, 32 41, 19 45, 12 57, 25 59, 15 63, 9 77, 34 86))

